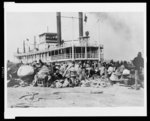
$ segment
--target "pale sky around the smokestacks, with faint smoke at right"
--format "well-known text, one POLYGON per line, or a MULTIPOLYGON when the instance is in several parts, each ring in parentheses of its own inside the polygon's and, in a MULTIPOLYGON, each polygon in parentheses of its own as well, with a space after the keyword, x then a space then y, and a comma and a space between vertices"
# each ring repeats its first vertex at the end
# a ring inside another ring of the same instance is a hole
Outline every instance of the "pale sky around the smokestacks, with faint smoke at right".
MULTIPOLYGON (((84 33, 89 31, 90 42, 104 45, 104 58, 131 60, 139 51, 144 54, 144 14, 142 12, 88 12, 84 33)), ((79 37, 78 13, 61 13, 62 39, 79 37)), ((6 13, 7 59, 14 60, 17 47, 22 51, 23 40, 32 44, 34 36, 44 32, 57 32, 55 12, 7 12, 6 13), (48 29, 47 29, 48 28, 48 29)), ((28 44, 28 43, 27 43, 28 44)))

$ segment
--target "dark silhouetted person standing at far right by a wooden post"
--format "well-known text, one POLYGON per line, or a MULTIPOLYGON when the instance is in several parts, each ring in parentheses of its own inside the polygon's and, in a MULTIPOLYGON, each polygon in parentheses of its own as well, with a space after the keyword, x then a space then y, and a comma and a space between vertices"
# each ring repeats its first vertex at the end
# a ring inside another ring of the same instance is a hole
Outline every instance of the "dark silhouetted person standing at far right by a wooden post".
POLYGON ((142 58, 142 53, 139 52, 137 57, 132 61, 135 66, 135 89, 138 89, 138 83, 143 87, 142 81, 140 80, 140 75, 144 68, 144 59, 142 58))

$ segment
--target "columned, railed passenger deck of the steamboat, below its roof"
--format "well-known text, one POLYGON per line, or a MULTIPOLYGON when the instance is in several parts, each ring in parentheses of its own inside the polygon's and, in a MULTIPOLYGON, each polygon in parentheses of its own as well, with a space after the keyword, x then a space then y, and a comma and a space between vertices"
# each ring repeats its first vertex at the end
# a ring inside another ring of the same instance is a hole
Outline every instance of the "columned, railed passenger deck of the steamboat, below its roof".
POLYGON ((16 56, 23 63, 38 61, 57 62, 68 60, 103 60, 103 50, 97 47, 73 46, 42 52, 20 54, 16 56))

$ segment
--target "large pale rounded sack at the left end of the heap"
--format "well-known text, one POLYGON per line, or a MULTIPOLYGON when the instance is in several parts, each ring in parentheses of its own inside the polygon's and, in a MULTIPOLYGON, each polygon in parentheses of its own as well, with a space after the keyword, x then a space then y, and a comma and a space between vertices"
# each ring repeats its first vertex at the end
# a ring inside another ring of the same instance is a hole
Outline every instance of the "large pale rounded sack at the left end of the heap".
POLYGON ((34 68, 29 65, 22 65, 17 71, 19 77, 25 77, 32 74, 34 74, 34 68))

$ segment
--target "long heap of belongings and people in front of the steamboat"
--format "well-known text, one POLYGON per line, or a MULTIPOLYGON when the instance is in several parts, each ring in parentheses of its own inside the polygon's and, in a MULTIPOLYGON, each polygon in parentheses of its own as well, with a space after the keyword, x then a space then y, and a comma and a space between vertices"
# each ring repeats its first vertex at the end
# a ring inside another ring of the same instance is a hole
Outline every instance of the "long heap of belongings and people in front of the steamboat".
MULTIPOLYGON (((63 87, 107 87, 113 83, 128 84, 132 72, 124 65, 114 66, 113 64, 102 64, 100 67, 72 62, 61 63, 39 63, 31 65, 13 65, 8 68, 8 77, 16 77, 18 85, 43 86, 51 88, 63 87), (11 68, 10 68, 11 67, 11 68)), ((133 77, 134 78, 134 77, 133 77)), ((12 79, 11 79, 12 80, 12 79)), ((9 86, 12 85, 9 83, 9 86)))

